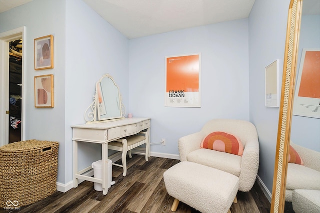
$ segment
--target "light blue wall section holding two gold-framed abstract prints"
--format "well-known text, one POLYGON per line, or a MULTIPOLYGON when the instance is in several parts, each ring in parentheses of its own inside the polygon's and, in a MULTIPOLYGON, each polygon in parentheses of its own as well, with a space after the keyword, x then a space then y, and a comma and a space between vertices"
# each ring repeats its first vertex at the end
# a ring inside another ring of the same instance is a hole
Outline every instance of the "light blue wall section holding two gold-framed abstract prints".
POLYGON ((59 142, 58 182, 64 183, 65 138, 65 1, 33 0, 27 4, 0 13, 0 32, 25 26, 25 67, 23 78, 26 97, 23 98, 26 119, 23 120, 25 140, 37 139, 59 142), (36 71, 33 65, 33 39, 53 35, 54 68, 36 71), (54 75, 54 108, 35 108, 33 78, 54 75))

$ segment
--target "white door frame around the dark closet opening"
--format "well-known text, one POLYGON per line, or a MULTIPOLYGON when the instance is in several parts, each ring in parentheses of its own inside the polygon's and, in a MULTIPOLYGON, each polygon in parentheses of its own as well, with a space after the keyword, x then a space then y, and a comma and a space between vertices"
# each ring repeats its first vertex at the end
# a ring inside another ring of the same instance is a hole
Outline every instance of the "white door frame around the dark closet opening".
POLYGON ((5 114, 5 111, 9 110, 9 42, 17 39, 22 39, 22 76, 21 76, 21 141, 24 140, 24 128, 25 123, 25 107, 23 98, 25 96, 25 79, 24 70, 25 60, 24 55, 26 52, 25 42, 25 26, 18 27, 12 30, 8 30, 0 33, 0 146, 8 144, 9 140, 9 115, 5 114))

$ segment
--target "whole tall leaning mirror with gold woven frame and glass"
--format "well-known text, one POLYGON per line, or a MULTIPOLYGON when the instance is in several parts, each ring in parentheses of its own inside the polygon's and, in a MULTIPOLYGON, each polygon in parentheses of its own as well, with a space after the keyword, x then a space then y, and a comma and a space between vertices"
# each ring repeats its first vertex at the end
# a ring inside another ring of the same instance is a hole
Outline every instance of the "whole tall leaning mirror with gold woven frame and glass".
POLYGON ((290 2, 271 212, 320 210, 320 202, 311 201, 320 198, 319 13, 319 0, 290 2), (305 60, 307 51, 311 61, 305 60))

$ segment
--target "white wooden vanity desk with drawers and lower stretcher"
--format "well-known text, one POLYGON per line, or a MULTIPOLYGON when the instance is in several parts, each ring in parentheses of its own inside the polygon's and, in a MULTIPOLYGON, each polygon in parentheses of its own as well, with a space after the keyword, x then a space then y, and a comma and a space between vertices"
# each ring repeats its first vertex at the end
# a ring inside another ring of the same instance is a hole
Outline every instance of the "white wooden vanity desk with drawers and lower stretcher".
MULTIPOLYGON (((102 194, 107 194, 108 183, 108 143, 119 138, 135 135, 142 130, 149 131, 150 118, 120 118, 114 121, 73 125, 73 188, 78 186, 78 179, 102 184, 102 194), (83 175, 91 166, 78 171, 77 142, 96 143, 102 145, 102 179, 83 175)), ((120 142, 119 142, 120 143, 120 142)), ((147 138, 147 143, 150 143, 147 138)))

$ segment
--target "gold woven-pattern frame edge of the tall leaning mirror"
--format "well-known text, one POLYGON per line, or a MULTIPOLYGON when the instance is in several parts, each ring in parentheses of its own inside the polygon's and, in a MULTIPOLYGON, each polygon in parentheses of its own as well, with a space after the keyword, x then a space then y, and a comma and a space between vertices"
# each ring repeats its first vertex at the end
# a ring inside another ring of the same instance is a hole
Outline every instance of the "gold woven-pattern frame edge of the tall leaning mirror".
POLYGON ((283 60, 281 99, 279 108, 278 132, 273 172, 272 198, 270 213, 283 213, 285 202, 285 180, 292 106, 295 86, 297 51, 302 12, 302 0, 290 0, 286 26, 283 60))

